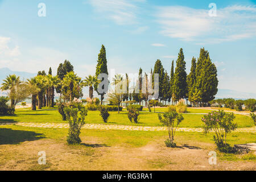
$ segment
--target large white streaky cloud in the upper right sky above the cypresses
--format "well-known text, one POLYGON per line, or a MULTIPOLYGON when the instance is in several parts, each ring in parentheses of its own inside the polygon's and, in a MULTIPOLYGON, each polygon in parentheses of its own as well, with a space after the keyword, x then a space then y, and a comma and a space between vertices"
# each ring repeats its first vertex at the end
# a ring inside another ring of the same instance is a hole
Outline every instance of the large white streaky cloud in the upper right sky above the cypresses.
POLYGON ((256 7, 228 6, 217 9, 210 17, 209 9, 200 10, 184 6, 158 7, 156 17, 160 34, 198 44, 220 43, 256 36, 256 7))

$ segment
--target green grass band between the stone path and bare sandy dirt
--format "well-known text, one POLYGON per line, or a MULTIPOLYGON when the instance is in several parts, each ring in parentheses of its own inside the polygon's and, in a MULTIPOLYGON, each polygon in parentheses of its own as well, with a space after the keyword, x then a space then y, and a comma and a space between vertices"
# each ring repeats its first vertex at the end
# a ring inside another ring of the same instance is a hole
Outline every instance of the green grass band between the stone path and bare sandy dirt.
MULTIPOLYGON (((23 126, 0 126, 0 144, 19 144, 24 141, 39 139, 54 139, 65 141, 68 135, 68 129, 47 129, 23 126)), ((159 138, 168 137, 167 131, 123 131, 123 130, 89 130, 82 129, 80 137, 97 137, 104 140, 106 146, 115 146, 130 144, 131 146, 141 147, 148 142, 159 138), (120 137, 122 136, 122 137, 120 137)), ((198 132, 177 131, 175 140, 199 141, 205 143, 214 143, 213 133, 204 134, 198 132)), ((227 137, 227 143, 256 143, 256 134, 234 132, 227 137)), ((179 142, 178 142, 179 143, 179 142)))

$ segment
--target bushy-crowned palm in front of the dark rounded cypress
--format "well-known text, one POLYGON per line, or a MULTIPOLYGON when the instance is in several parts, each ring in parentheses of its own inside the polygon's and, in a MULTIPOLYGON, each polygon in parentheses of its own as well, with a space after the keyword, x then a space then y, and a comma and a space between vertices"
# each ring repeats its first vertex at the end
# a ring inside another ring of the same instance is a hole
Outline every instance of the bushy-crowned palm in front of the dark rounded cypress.
POLYGON ((73 100, 73 88, 79 82, 79 77, 74 72, 68 72, 61 84, 69 87, 69 102, 73 100))

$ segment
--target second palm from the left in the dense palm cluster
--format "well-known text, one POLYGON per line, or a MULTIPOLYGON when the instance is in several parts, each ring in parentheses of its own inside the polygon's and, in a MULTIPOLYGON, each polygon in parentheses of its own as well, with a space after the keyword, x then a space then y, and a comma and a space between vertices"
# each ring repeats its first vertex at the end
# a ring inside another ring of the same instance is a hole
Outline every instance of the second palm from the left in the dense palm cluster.
POLYGON ((36 87, 38 88, 38 109, 43 107, 43 93, 47 86, 46 76, 39 75, 35 77, 36 87))

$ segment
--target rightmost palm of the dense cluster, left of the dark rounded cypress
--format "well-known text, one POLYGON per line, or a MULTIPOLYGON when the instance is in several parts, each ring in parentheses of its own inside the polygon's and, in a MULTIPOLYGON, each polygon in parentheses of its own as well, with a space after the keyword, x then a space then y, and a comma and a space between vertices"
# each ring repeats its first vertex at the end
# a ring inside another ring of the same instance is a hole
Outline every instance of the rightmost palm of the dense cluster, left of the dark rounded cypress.
POLYGON ((54 107, 54 89, 59 86, 60 79, 58 76, 47 76, 47 85, 48 85, 48 96, 49 96, 49 106, 54 107))

